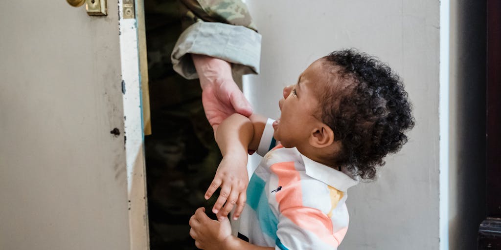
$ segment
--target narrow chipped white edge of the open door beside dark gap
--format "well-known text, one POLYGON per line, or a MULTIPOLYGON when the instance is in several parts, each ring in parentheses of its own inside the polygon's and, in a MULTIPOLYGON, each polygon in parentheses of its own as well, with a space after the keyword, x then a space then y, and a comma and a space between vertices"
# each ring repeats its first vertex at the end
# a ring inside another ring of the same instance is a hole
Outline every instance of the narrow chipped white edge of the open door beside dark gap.
POLYGON ((149 249, 144 158, 144 124, 149 124, 149 108, 146 112, 143 109, 144 103, 149 106, 149 100, 143 98, 142 90, 148 89, 143 6, 143 0, 118 1, 131 250, 149 249), (134 18, 124 16, 124 5, 130 2, 134 3, 134 18), (146 121, 143 113, 148 114, 146 121))

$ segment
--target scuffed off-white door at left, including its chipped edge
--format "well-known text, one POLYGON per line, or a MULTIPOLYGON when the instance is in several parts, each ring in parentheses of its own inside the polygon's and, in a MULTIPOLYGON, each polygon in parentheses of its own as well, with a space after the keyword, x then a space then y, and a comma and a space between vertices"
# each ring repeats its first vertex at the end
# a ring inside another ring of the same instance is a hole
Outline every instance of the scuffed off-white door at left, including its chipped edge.
POLYGON ((0 1, 0 249, 148 248, 131 2, 0 1))

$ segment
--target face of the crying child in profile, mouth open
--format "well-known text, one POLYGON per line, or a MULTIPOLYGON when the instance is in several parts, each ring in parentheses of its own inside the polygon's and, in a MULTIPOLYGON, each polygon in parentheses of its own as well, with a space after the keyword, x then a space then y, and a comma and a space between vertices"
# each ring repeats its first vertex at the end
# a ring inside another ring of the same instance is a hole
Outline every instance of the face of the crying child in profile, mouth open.
POLYGON ((324 87, 328 77, 322 70, 321 59, 313 62, 299 77, 298 83, 284 88, 280 99, 280 118, 273 123, 274 137, 285 147, 299 147, 309 143, 310 134, 318 119, 317 89, 324 87))

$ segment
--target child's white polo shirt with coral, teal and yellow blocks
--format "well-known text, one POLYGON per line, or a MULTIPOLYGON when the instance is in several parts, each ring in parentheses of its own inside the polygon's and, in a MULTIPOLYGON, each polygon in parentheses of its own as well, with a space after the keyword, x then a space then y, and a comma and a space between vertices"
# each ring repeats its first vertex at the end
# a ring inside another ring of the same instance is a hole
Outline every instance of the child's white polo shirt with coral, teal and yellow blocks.
POLYGON ((348 229, 347 189, 358 181, 295 147, 274 146, 272 123, 261 138, 264 157, 247 186, 238 237, 276 249, 337 249, 348 229))

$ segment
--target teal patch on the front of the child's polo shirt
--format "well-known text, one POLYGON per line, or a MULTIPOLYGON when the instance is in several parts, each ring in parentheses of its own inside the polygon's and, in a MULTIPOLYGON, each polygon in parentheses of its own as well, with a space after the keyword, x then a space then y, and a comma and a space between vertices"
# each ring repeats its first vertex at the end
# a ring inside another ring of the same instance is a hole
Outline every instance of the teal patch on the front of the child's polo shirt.
POLYGON ((265 185, 266 182, 257 174, 252 175, 247 186, 247 204, 256 211, 261 231, 276 240, 279 220, 268 204, 265 185))

